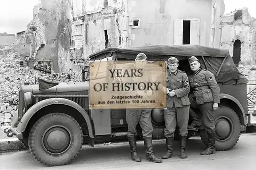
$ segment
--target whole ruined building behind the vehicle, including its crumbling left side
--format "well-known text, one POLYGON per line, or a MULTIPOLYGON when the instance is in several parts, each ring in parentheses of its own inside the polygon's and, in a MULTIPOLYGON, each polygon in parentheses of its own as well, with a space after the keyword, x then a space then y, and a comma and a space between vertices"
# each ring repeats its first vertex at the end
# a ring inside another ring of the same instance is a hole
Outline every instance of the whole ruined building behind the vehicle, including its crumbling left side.
POLYGON ((107 47, 200 44, 218 47, 223 0, 40 0, 34 7, 30 54, 53 72, 107 47))

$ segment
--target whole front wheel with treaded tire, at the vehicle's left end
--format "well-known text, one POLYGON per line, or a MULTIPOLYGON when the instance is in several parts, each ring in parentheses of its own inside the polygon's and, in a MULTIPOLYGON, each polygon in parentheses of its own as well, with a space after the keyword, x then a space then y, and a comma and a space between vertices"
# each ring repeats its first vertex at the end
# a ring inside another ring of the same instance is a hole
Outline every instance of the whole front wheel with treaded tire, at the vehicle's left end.
POLYGON ((81 150, 82 143, 81 127, 64 113, 51 113, 38 119, 28 139, 34 158, 47 166, 70 163, 81 150))

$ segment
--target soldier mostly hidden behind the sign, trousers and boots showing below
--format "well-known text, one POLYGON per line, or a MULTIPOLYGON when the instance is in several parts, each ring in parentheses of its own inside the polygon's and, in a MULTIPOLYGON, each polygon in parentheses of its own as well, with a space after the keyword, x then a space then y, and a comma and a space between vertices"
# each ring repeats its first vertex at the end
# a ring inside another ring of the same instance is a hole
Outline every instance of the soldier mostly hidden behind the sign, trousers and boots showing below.
MULTIPOLYGON (((144 53, 140 53, 136 57, 136 65, 140 65, 143 67, 143 61, 146 61, 147 57, 144 53), (141 62, 142 61, 142 62, 141 62)), ((140 68, 141 68, 140 67, 140 68)), ((145 68, 143 72, 147 71, 145 68)), ((137 80, 133 81, 143 81, 141 78, 137 78, 137 80)), ((146 97, 146 93, 143 91, 136 91, 137 94, 146 97)), ((152 146, 152 132, 153 126, 151 122, 151 109, 126 109, 126 122, 128 124, 128 132, 127 137, 129 139, 130 149, 131 149, 131 157, 133 161, 140 162, 141 159, 137 155, 137 146, 136 146, 136 126, 139 123, 142 129, 142 135, 144 140, 144 148, 146 152, 146 161, 152 161, 155 163, 162 162, 161 158, 156 158, 153 154, 153 146, 152 146)))

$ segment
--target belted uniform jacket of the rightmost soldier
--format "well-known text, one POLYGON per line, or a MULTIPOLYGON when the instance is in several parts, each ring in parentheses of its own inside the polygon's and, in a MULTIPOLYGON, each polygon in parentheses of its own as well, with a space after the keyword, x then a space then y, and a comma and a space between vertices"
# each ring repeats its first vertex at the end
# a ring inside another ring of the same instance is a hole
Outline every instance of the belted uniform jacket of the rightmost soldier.
POLYGON ((199 69, 196 73, 189 76, 190 88, 193 89, 191 97, 196 98, 198 105, 207 102, 220 103, 220 87, 216 82, 214 74, 205 69, 199 69))

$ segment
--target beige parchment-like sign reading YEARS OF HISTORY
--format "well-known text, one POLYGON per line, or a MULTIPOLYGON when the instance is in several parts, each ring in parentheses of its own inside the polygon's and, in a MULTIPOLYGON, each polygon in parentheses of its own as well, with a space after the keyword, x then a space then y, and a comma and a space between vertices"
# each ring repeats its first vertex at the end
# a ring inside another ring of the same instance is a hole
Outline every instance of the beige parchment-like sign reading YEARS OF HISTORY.
POLYGON ((90 109, 164 109, 165 84, 165 61, 94 61, 90 109))

